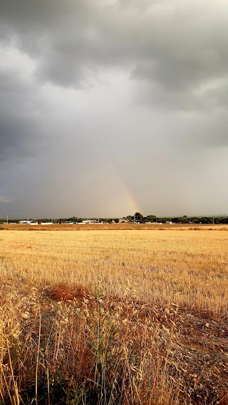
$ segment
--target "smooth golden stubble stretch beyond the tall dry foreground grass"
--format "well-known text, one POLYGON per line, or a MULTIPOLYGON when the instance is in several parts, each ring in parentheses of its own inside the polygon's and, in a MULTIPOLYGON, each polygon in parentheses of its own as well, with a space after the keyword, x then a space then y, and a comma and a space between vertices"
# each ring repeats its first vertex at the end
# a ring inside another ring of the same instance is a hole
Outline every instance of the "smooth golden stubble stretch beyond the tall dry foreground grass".
POLYGON ((1 231, 2 277, 177 303, 227 317, 224 231, 1 231))

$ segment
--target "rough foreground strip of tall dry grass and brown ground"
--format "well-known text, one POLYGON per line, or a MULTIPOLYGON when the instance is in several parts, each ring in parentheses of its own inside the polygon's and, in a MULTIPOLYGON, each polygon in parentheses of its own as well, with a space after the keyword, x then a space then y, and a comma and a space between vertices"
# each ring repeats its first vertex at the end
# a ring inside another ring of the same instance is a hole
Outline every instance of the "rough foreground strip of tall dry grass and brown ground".
POLYGON ((209 311, 1 280, 1 404, 228 404, 209 311))

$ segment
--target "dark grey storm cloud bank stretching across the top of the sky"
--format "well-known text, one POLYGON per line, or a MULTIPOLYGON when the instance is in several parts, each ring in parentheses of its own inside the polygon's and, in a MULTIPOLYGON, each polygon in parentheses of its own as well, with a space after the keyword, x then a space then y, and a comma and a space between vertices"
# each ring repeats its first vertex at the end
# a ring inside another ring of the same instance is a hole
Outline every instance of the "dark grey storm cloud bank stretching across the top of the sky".
MULTIPOLYGON (((212 0, 21 0, 4 1, 0 18, 6 38, 37 58, 43 80, 76 85, 104 66, 125 66, 152 100, 155 87, 165 104, 173 94, 169 104, 188 110, 207 105, 207 83, 227 78, 227 14, 212 0)), ((219 83, 212 90, 219 102, 219 83)))

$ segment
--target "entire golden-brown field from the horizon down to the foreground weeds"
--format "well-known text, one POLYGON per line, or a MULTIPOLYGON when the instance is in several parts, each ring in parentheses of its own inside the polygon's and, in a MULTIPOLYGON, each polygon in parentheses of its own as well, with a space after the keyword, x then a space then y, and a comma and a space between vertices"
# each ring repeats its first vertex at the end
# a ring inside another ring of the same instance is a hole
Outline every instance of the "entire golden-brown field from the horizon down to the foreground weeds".
POLYGON ((0 404, 228 404, 227 229, 3 226, 0 404))

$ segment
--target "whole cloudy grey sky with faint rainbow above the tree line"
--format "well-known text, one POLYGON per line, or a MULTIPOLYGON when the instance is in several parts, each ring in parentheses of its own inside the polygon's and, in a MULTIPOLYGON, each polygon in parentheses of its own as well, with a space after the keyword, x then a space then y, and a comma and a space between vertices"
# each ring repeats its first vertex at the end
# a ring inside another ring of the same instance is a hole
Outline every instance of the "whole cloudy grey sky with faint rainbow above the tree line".
POLYGON ((0 218, 228 214, 227 0, 0 9, 0 218))

